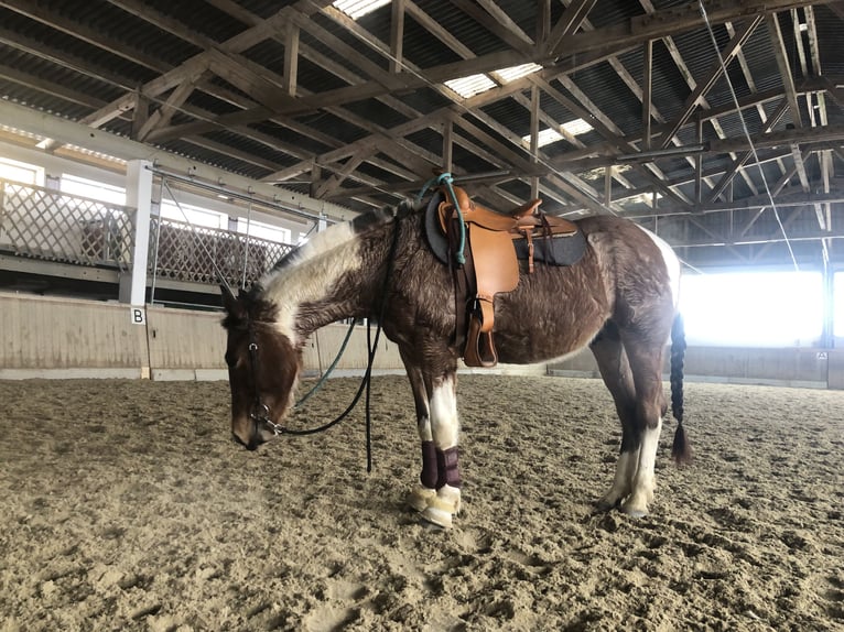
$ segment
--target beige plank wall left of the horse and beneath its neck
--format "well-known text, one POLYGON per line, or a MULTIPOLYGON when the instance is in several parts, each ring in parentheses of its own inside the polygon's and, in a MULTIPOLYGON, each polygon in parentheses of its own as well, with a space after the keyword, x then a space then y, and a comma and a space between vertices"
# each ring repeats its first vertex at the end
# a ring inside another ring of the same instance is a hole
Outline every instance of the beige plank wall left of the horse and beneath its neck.
MULTIPOLYGON (((220 313, 147 307, 145 322, 125 304, 0 293, 0 379, 121 377, 158 380, 227 377, 220 313)), ((305 371, 334 360, 346 325, 315 333, 303 349, 305 371)), ((366 329, 356 327, 338 367, 366 367, 366 329)), ((377 369, 401 369, 396 345, 381 337, 377 369)))

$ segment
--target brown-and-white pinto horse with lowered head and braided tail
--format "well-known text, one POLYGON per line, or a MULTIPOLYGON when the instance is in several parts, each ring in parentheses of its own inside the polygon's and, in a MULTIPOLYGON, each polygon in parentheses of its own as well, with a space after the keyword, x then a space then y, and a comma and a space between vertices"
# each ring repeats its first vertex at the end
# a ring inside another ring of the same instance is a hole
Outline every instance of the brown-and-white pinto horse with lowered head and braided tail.
MULTIPOLYGON (((293 403, 307 337, 344 318, 369 318, 399 349, 415 404, 422 468, 409 505, 444 529, 461 509, 456 405, 462 349, 452 271, 425 239, 423 205, 403 203, 336 224, 282 258, 249 292, 221 286, 234 439, 249 450, 279 435, 293 403)), ((671 248, 615 216, 577 220, 576 263, 520 270, 495 296, 501 362, 550 361, 589 347, 609 390, 623 437, 615 478, 597 503, 643 516, 667 402, 663 352, 672 341, 672 455, 691 457, 682 425, 680 263, 671 248)))

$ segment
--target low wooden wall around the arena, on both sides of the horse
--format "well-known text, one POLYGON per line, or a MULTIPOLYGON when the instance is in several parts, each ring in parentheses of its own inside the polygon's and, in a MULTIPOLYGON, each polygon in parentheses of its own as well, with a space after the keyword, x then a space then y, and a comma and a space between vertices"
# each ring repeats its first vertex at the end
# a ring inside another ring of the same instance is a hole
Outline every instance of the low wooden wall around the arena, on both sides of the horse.
MULTIPOLYGON (((0 293, 0 379, 227 379, 221 314, 147 307, 139 323, 136 308, 125 304, 0 293)), ((346 325, 329 325, 307 340, 303 353, 306 373, 327 369, 346 330, 346 325)), ((366 328, 358 326, 337 364, 337 374, 360 373, 366 361, 366 328)), ((383 336, 375 369, 403 371, 398 348, 383 336)), ((588 351, 549 366, 502 366, 496 372, 598 377, 588 351)), ((685 375, 844 389, 844 349, 690 347, 685 375)))

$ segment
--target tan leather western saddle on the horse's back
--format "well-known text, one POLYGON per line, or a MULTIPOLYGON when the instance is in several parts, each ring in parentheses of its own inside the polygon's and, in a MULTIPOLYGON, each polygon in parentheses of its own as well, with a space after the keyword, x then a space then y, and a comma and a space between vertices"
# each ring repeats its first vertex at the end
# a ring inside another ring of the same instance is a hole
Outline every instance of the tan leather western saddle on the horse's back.
POLYGON ((454 266, 457 303, 457 336, 465 331, 463 359, 468 367, 495 367, 498 353, 493 339, 495 295, 519 284, 519 260, 513 242, 528 243, 528 273, 533 273, 534 241, 577 232, 574 222, 549 217, 538 210, 541 199, 531 199, 507 213, 497 213, 469 199, 458 186, 441 186, 437 208, 440 227, 448 236, 450 249, 459 254, 457 233, 465 231, 465 263, 454 266), (463 228, 461 228, 461 222, 463 228), (468 306, 464 309, 464 306, 468 306), (468 324, 466 324, 468 318, 468 324))

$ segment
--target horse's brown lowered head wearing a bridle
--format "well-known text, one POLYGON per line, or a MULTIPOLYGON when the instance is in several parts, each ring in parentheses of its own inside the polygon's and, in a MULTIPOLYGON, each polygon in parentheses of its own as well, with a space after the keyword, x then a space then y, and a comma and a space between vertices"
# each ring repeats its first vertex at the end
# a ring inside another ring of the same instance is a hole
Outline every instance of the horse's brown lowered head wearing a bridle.
POLYGON ((257 292, 238 297, 223 287, 228 333, 226 364, 231 388, 231 433, 253 450, 277 435, 291 407, 301 351, 274 323, 275 308, 257 292))

